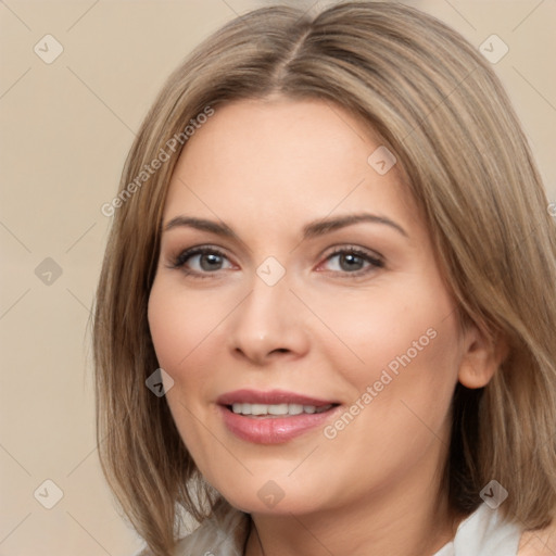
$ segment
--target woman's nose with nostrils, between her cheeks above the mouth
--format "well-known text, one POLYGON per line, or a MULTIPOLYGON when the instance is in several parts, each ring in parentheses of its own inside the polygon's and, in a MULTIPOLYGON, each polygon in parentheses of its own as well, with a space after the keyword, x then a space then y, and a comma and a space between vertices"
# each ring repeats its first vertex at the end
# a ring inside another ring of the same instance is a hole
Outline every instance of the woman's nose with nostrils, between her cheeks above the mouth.
POLYGON ((251 292, 229 319, 229 348, 235 357, 264 366, 278 358, 298 358, 308 351, 306 308, 283 277, 268 286, 254 277, 251 292))

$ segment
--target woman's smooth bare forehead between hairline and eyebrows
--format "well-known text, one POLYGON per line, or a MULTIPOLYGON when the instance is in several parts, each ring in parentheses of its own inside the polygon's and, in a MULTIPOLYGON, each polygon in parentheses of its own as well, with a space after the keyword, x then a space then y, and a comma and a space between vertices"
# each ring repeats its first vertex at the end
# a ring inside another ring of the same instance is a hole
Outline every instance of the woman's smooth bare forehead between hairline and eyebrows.
POLYGON ((182 212, 226 222, 249 215, 268 228, 363 208, 407 222, 407 189, 395 165, 380 174, 369 163, 377 149, 368 125, 328 101, 218 106, 181 152, 165 220, 182 212))

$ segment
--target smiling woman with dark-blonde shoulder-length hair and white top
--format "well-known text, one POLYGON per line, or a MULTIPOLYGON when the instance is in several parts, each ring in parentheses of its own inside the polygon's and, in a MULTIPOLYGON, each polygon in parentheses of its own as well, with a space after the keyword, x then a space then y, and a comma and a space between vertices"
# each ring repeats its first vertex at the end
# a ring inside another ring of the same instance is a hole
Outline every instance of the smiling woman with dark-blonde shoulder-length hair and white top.
POLYGON ((143 554, 555 554, 547 207, 488 62, 428 15, 268 8, 203 42, 131 148, 97 296, 143 554))

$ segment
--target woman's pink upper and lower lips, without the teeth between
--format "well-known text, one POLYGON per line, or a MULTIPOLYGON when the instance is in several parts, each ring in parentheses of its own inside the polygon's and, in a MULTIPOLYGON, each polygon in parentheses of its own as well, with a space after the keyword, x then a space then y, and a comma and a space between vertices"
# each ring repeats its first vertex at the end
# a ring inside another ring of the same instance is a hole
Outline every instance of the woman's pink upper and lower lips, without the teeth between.
POLYGON ((218 397, 218 410, 228 430, 238 438, 254 444, 281 444, 288 442, 311 429, 321 426, 339 408, 339 406, 334 406, 323 413, 291 415, 289 417, 252 417, 235 414, 228 408, 233 403, 290 403, 321 407, 334 402, 279 390, 273 390, 271 392, 237 390, 218 397))

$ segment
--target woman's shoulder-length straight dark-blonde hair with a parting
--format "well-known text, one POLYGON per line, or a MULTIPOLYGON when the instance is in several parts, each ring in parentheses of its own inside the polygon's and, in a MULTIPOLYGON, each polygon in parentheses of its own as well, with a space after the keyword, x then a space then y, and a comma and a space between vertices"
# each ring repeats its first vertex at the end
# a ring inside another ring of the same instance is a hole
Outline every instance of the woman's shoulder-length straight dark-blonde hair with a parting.
MULTIPOLYGON (((346 2, 315 17, 274 7, 230 22, 173 73, 126 160, 121 193, 191 118, 239 99, 325 99, 392 150, 422 211, 462 324, 509 353, 480 390, 458 384, 445 488, 470 513, 492 479, 504 515, 528 529, 556 506, 556 232, 526 137, 489 64, 457 33, 392 2, 346 2)), ((164 397, 147 319, 160 224, 187 146, 118 203, 94 314, 97 426, 105 477, 156 556, 172 553, 186 509, 217 503, 164 397)), ((170 143, 174 144, 174 143, 170 143)))

